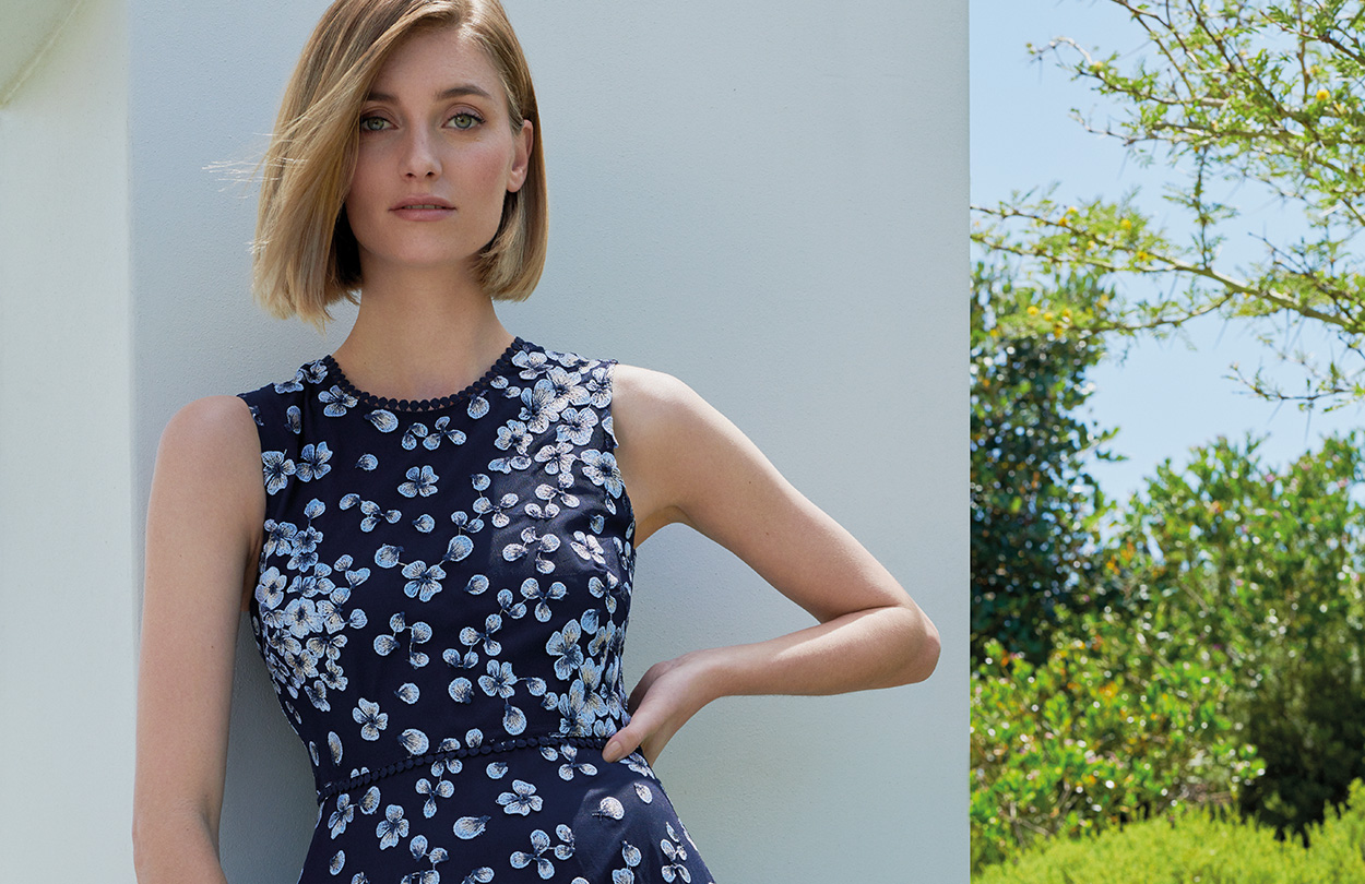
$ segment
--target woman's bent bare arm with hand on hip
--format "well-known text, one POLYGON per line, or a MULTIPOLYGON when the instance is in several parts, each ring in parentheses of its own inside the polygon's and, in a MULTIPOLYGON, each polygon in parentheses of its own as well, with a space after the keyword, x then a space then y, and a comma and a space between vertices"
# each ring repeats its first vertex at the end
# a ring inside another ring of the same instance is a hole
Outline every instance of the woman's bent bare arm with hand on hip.
POLYGON ((938 630, 905 589, 758 447, 687 385, 616 367, 617 462, 636 543, 684 522, 738 555, 818 625, 748 645, 710 648, 651 667, 631 694, 631 724, 609 743, 651 761, 711 700, 728 694, 827 694, 923 681, 938 630))

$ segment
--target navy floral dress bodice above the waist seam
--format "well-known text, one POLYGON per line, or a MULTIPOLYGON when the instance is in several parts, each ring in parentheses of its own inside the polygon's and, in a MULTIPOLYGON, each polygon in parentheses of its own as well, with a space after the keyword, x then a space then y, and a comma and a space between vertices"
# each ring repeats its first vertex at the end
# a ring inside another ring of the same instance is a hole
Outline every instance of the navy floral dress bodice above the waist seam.
POLYGON ((319 799, 624 724, 613 366, 517 338, 440 400, 377 398, 330 356, 242 394, 266 492, 251 625, 319 799))

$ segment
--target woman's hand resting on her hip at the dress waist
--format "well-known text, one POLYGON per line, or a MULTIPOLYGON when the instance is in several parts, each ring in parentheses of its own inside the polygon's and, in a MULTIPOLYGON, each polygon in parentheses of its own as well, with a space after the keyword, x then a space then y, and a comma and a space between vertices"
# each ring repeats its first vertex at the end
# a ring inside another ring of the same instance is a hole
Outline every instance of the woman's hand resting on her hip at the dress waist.
POLYGON ((693 651, 651 666, 627 701, 631 723, 607 741, 602 757, 618 761, 639 749, 654 764, 673 734, 722 694, 713 656, 711 651, 693 651))

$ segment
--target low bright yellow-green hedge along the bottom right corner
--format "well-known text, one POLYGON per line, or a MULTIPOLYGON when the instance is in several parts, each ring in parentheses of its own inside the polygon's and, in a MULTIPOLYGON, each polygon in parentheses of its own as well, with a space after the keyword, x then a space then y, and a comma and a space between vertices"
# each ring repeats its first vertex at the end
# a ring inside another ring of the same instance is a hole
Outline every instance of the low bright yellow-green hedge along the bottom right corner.
POLYGON ((1350 809, 1313 828, 1312 849, 1272 829, 1186 810, 1096 838, 1057 840, 996 865, 973 884, 1360 884, 1365 881, 1365 787, 1350 809))

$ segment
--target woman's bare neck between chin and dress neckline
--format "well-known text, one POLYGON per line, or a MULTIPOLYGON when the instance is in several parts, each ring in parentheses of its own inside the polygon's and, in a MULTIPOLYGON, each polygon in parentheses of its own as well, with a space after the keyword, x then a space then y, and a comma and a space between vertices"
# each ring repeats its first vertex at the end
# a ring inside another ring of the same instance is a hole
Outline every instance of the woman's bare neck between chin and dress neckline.
POLYGON ((478 381, 512 344, 493 300, 472 281, 371 276, 333 359, 366 393, 440 398, 478 381))

